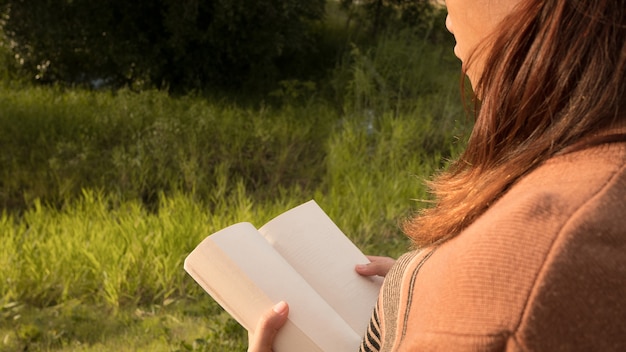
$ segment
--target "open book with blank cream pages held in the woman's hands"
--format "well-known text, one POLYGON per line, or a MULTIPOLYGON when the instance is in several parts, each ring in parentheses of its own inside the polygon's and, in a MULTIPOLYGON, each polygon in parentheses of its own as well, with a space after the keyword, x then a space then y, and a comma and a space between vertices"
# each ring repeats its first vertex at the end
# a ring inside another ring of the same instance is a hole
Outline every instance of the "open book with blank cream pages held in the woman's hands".
POLYGON ((260 229, 238 223, 204 239, 185 270, 248 331, 281 300, 289 319, 274 350, 357 351, 380 277, 362 277, 361 251, 309 201, 260 229))

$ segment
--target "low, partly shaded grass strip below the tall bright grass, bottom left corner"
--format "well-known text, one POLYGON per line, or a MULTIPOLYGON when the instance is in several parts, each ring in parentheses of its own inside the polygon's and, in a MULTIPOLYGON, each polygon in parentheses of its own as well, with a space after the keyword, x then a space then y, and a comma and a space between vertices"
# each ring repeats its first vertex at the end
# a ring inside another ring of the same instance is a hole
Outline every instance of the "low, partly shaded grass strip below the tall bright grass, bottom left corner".
POLYGON ((117 312, 78 300, 48 308, 6 304, 0 351, 242 351, 245 330, 210 298, 117 312))

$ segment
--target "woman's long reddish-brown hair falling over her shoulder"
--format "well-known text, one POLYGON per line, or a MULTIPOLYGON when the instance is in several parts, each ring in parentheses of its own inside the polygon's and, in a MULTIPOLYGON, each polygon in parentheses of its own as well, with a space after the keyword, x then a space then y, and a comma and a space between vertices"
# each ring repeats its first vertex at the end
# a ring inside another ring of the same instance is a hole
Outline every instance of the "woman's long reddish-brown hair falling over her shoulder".
POLYGON ((434 206, 404 226, 417 247, 458 235, 537 165, 624 122, 623 1, 520 1, 484 44, 467 147, 429 183, 434 206))

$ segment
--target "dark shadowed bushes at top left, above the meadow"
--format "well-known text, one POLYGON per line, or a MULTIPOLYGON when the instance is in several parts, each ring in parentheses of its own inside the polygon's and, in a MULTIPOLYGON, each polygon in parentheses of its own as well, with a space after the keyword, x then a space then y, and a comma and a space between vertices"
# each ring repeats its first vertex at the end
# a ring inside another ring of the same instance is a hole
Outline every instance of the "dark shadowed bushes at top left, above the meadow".
POLYGON ((1 29, 40 82, 240 86, 309 48, 325 0, 1 0, 1 29))

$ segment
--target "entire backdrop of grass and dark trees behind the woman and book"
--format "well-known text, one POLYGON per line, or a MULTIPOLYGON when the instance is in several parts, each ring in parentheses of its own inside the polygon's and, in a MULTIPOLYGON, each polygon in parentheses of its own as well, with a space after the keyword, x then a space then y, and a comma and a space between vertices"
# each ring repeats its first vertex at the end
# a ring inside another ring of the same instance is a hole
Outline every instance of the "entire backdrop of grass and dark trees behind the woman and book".
POLYGON ((314 198, 364 252, 397 256, 409 248, 398 223, 428 198, 423 179, 463 146, 459 64, 424 2, 112 1, 97 5, 102 23, 70 15, 94 11, 88 2, 51 3, 0 1, 0 351, 242 351, 245 332, 182 270, 202 238, 314 198), (289 11, 303 15, 270 31, 289 11), (140 33, 174 20, 167 40, 140 33), (209 33, 234 24, 212 47, 209 33), (139 44, 113 34, 125 26, 139 44), (287 27, 311 45, 286 49, 287 27), (79 45, 68 32, 102 28, 114 40, 79 45), (237 37, 264 28, 281 50, 237 37), (51 56, 52 36, 84 50, 51 56), (204 56, 246 45, 263 60, 204 56), (139 56, 158 62, 144 70, 139 56), (54 57, 76 65, 37 68, 54 57))

